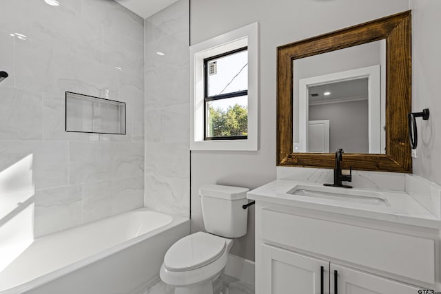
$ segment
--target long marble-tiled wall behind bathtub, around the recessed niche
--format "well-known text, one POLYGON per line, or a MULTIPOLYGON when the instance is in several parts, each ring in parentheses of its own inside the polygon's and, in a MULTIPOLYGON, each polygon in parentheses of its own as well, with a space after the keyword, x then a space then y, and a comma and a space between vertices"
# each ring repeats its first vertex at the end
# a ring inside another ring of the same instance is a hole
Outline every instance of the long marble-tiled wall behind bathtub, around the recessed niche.
POLYGON ((115 1, 59 3, 0 9, 0 206, 32 190, 36 238, 144 205, 144 21, 115 1), (65 132, 65 91, 127 103, 127 134, 65 132))

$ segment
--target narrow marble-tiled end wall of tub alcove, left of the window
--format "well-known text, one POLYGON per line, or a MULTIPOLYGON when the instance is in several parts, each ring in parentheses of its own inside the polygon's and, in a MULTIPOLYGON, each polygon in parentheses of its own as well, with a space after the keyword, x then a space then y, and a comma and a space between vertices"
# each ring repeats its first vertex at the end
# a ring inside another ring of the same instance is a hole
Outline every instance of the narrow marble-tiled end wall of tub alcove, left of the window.
POLYGON ((145 19, 145 204, 189 217, 189 1, 145 19))

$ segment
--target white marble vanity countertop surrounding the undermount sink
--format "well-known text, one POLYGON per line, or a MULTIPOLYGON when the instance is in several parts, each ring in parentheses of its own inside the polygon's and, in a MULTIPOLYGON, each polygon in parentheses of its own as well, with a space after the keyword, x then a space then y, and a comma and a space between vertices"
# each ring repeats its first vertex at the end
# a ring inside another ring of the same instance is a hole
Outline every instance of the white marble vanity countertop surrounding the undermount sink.
MULTIPOLYGON (((385 220, 400 224, 410 224, 419 227, 441 229, 441 220, 430 213, 405 191, 382 189, 353 188, 345 189, 329 187, 334 193, 373 193, 385 200, 385 204, 365 204, 346 200, 315 198, 288 193, 296 185, 307 185, 312 189, 322 189, 322 185, 311 182, 297 182, 294 180, 274 180, 247 193, 247 198, 256 201, 271 202, 291 207, 327 211, 348 216, 385 220)), ((301 188, 301 187, 300 187, 301 188)))

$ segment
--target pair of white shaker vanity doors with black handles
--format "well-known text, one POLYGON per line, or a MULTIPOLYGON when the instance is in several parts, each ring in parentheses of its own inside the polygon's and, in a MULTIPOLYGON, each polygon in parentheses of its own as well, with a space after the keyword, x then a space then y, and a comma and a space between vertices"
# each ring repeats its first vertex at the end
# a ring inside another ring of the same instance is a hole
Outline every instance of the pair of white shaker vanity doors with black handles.
POLYGON ((259 293, 416 294, 421 288, 262 244, 259 293))

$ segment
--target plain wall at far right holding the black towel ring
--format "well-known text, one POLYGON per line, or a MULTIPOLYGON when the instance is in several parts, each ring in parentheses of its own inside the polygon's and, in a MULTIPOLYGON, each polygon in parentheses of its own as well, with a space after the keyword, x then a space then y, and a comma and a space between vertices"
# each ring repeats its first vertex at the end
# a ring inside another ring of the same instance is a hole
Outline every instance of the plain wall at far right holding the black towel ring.
POLYGON ((429 120, 417 118, 418 158, 413 173, 441 184, 441 1, 411 0, 412 111, 430 109, 429 120))

